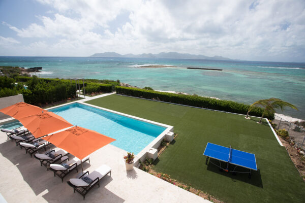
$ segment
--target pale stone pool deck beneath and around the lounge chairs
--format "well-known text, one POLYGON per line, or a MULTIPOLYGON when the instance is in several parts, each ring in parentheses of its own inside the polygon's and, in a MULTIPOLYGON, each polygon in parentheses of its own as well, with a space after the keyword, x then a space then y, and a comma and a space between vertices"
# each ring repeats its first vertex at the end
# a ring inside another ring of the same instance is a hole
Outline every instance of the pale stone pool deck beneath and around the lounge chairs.
MULTIPOLYGON (((83 197, 73 193, 66 183, 75 178, 76 171, 64 179, 47 171, 40 162, 7 141, 0 132, 0 193, 7 202, 81 202, 83 197)), ((43 152, 43 151, 42 151, 43 152)), ((86 195, 88 202, 210 202, 187 190, 134 167, 127 172, 123 155, 126 152, 107 145, 90 155, 90 164, 83 164, 84 171, 92 172, 101 164, 112 168, 111 177, 104 177, 99 188, 95 186, 86 195)), ((79 172, 80 172, 79 166, 79 172)))

